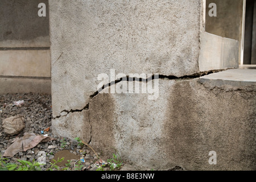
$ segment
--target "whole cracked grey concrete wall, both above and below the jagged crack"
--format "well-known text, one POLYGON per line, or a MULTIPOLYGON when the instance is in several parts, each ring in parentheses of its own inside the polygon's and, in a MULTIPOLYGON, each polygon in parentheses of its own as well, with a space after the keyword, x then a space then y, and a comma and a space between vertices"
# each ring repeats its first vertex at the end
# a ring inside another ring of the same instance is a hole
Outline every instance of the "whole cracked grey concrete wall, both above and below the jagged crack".
POLYGON ((50 0, 53 133, 142 168, 255 169, 255 88, 194 79, 238 67, 238 41, 205 32, 205 14, 201 0, 50 0), (101 73, 159 73, 159 97, 98 93, 101 73))

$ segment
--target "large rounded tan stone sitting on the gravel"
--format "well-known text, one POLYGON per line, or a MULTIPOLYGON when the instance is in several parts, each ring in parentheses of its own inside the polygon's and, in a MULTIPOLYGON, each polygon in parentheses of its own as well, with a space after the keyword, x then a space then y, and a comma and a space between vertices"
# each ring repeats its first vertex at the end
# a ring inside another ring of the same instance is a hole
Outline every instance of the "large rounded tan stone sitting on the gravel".
POLYGON ((20 115, 3 119, 3 132, 7 135, 16 135, 25 127, 24 118, 20 115))

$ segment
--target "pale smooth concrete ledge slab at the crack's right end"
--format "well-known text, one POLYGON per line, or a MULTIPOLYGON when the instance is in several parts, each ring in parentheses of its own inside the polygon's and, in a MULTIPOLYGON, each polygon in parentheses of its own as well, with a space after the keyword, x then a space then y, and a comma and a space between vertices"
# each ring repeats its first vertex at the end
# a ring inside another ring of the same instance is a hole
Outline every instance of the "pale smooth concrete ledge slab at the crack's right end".
POLYGON ((199 81, 205 86, 214 88, 242 88, 256 85, 256 69, 229 69, 200 77, 199 81))

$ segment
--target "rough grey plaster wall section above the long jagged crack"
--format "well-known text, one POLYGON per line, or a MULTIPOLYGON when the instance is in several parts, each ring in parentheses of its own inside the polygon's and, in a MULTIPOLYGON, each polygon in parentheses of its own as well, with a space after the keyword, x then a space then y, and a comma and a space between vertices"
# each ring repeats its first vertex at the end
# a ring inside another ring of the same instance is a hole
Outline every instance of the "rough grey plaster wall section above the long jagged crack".
POLYGON ((200 22, 200 0, 50 0, 53 116, 82 109, 110 69, 196 73, 200 22))

